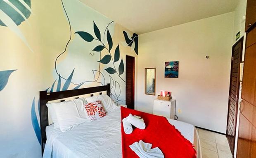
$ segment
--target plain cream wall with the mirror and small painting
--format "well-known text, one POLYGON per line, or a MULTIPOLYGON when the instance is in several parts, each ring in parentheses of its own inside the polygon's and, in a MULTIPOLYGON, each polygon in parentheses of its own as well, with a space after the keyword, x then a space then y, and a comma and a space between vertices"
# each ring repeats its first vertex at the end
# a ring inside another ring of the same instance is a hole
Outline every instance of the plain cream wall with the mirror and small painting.
POLYGON ((153 111, 156 96, 144 94, 144 69, 156 67, 156 94, 172 92, 180 121, 225 133, 233 23, 230 12, 141 34, 137 110, 153 111), (179 61, 179 78, 164 78, 167 61, 179 61))

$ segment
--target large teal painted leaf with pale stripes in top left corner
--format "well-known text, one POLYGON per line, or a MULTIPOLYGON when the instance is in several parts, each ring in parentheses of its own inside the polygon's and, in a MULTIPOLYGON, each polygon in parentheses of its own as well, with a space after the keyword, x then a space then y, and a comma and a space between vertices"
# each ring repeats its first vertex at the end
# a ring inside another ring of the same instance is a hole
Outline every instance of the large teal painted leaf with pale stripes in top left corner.
MULTIPOLYGON (((0 10, 18 26, 31 14, 31 0, 0 0, 0 10)), ((0 25, 6 26, 0 20, 0 25)))

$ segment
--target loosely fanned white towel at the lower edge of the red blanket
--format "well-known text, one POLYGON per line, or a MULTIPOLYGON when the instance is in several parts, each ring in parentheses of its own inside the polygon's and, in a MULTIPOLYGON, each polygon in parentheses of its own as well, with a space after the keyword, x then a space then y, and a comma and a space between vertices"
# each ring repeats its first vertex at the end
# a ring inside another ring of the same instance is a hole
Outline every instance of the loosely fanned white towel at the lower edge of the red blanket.
POLYGON ((151 149, 152 144, 145 143, 142 140, 131 144, 129 147, 140 158, 164 158, 164 154, 158 147, 151 149))

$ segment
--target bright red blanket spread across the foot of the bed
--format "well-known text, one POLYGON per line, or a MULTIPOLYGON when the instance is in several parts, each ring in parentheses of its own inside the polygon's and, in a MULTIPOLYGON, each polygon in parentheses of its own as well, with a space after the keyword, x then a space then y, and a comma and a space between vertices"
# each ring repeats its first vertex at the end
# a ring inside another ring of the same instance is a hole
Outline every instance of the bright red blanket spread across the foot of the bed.
POLYGON ((122 123, 123 158, 138 158, 135 152, 130 149, 129 145, 139 142, 139 140, 152 144, 152 148, 159 147, 164 153, 165 158, 197 157, 193 144, 183 137, 165 117, 121 107, 121 119, 127 117, 129 114, 142 117, 146 128, 141 130, 133 127, 133 133, 128 135, 124 133, 122 123))

